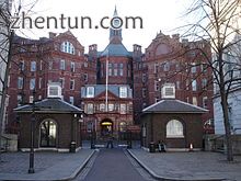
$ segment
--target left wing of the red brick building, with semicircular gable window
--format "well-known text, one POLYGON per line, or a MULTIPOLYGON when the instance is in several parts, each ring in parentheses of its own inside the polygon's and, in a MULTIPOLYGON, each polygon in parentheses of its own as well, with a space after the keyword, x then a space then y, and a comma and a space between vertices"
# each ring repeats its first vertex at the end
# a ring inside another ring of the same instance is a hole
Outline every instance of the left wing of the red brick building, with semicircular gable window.
POLYGON ((88 60, 83 46, 71 32, 37 41, 15 37, 10 70, 8 121, 9 132, 18 128, 13 109, 32 102, 33 90, 37 100, 47 98, 47 83, 60 82, 62 99, 77 106, 81 105, 80 89, 95 83, 95 61, 88 60))

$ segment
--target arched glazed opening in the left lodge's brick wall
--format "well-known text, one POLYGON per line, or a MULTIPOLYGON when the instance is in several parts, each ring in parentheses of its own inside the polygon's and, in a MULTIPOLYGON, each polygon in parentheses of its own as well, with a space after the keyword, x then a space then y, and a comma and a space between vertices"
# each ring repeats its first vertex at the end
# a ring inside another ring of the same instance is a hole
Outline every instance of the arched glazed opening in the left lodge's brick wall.
POLYGON ((53 120, 45 120, 41 126, 41 147, 56 147, 57 124, 53 120))

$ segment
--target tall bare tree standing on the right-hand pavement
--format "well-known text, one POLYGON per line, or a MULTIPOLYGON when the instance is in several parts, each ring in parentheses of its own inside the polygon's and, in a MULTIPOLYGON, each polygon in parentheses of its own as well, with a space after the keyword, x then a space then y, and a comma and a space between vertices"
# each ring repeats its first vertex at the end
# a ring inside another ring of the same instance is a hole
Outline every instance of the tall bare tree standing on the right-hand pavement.
POLYGON ((211 44, 213 59, 207 59, 207 63, 221 99, 227 160, 233 161, 228 99, 230 90, 241 82, 241 78, 236 76, 240 71, 240 57, 236 52, 241 38, 234 38, 240 35, 241 1, 195 0, 187 15, 192 15, 196 22, 182 27, 185 30, 184 36, 208 39, 211 44))

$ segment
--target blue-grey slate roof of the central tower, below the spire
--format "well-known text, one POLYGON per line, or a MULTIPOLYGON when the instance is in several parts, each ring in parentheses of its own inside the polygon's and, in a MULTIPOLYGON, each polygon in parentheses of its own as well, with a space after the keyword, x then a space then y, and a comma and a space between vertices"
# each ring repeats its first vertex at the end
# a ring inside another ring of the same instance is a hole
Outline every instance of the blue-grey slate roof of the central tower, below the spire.
POLYGON ((131 54, 126 49, 122 43, 110 43, 100 56, 116 56, 116 57, 130 57, 131 54))

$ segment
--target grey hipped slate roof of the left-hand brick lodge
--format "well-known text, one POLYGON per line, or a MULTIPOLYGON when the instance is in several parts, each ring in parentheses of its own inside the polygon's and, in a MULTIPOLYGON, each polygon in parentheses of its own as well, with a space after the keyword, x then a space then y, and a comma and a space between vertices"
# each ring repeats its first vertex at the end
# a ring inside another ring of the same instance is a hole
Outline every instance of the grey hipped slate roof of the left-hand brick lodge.
MULTIPOLYGON (((32 112, 33 105, 27 104, 14 109, 15 112, 32 112)), ((59 98, 48 98, 43 101, 35 102, 35 112, 39 113, 80 113, 81 109, 62 101, 59 98)))

